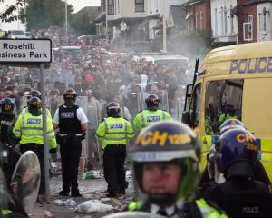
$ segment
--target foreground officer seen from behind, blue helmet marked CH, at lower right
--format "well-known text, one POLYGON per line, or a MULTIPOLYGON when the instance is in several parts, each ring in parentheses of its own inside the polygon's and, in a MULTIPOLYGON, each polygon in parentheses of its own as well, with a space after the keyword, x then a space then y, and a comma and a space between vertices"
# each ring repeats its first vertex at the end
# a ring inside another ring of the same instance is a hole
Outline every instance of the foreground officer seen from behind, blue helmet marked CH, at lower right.
MULTIPOLYGON (((230 217, 267 217, 272 205, 265 183, 253 180, 257 161, 257 140, 243 129, 228 130, 215 144, 216 171, 226 179, 205 195, 230 217)), ((217 173, 217 174, 219 174, 217 173)))

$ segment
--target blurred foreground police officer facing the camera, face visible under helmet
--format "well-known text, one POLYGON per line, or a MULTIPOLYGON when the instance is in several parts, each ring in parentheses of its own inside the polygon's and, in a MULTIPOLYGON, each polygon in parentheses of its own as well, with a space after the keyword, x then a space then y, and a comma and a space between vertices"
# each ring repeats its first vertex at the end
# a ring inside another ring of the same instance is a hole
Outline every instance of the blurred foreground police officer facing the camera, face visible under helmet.
POLYGON ((145 199, 134 210, 167 217, 227 217, 204 199, 193 200, 200 148, 189 126, 176 121, 148 126, 137 137, 130 157, 138 196, 145 199))

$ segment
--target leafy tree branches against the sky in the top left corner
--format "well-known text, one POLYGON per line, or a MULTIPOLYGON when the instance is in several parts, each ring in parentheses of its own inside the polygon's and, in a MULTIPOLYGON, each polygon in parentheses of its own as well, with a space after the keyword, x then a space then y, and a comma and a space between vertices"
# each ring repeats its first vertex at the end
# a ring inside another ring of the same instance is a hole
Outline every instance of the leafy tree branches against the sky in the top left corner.
MULTIPOLYGON (((3 5, 5 2, 5 0, 0 0, 0 7, 1 5, 3 5)), ((16 0, 15 5, 9 5, 5 11, 0 12, 0 20, 3 22, 12 22, 15 21, 17 19, 21 19, 23 18, 24 15, 14 15, 13 13, 15 11, 20 10, 20 8, 22 8, 24 5, 26 5, 26 3, 28 2, 28 0, 16 0)))

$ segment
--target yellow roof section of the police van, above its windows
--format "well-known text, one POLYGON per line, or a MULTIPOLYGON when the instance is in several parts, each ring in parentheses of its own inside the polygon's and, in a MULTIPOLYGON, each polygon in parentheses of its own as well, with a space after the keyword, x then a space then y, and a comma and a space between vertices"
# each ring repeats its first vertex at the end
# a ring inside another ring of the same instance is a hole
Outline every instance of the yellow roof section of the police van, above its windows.
MULTIPOLYGON (((263 69, 265 64, 272 63, 272 60, 269 61, 270 59, 267 59, 272 56, 271 47, 272 41, 267 41, 242 45, 229 45, 213 49, 205 57, 199 72, 205 73, 205 75, 238 74, 238 70, 232 73, 232 68, 238 69, 238 67, 244 67, 242 69, 243 72, 241 71, 239 74, 245 74, 247 72, 257 73, 259 67, 263 69), (260 58, 264 58, 264 60, 259 64, 260 58), (241 61, 243 63, 240 63, 241 61)), ((268 66, 266 69, 268 69, 268 66)))

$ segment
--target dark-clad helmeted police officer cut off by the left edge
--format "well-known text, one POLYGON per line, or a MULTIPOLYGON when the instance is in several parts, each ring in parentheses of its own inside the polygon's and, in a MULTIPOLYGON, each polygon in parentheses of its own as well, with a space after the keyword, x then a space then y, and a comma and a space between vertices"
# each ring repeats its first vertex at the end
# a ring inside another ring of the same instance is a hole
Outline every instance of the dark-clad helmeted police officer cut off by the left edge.
POLYGON ((20 158, 20 154, 12 146, 12 138, 8 134, 8 128, 15 118, 15 104, 10 98, 4 98, 1 102, 0 113, 0 141, 3 156, 3 171, 5 173, 6 183, 10 183, 15 165, 20 158))

